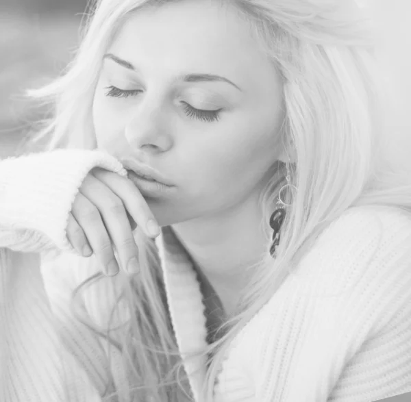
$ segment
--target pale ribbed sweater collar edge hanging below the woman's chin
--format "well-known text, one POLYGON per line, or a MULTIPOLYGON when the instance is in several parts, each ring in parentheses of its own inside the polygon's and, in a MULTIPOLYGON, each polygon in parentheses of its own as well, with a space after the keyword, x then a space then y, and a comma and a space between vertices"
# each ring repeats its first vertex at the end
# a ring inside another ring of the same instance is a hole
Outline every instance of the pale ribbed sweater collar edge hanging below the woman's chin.
POLYGON ((208 346, 205 306, 188 253, 175 236, 171 226, 161 228, 155 238, 158 247, 164 286, 169 304, 171 323, 175 332, 179 353, 195 400, 206 378, 206 355, 202 353, 208 346))

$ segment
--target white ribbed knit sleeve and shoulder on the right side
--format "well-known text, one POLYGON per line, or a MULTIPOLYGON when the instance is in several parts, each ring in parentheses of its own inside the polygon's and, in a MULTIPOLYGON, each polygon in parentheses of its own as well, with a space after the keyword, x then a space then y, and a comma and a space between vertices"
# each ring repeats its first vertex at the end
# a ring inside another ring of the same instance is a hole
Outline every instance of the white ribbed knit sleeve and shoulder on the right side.
POLYGON ((261 339, 248 357, 258 400, 411 392, 410 246, 410 214, 399 208, 351 208, 323 231, 251 332, 261 339))

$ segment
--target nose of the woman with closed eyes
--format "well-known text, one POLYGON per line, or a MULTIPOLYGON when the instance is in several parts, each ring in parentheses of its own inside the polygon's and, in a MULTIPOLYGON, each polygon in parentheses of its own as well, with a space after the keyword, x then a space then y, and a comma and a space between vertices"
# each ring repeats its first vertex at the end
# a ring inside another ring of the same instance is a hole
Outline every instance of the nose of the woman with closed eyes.
POLYGON ((164 110, 147 102, 140 103, 125 126, 125 138, 133 149, 143 153, 162 153, 173 146, 164 110))

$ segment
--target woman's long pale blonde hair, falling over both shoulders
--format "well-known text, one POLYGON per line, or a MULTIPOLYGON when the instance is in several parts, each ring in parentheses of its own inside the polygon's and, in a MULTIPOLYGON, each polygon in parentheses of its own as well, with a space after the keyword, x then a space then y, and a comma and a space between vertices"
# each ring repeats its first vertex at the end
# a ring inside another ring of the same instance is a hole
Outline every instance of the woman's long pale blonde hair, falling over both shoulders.
MULTIPOLYGON (((46 150, 90 147, 90 110, 103 53, 130 12, 172 1, 177 0, 101 0, 95 5, 67 71, 34 94, 51 101, 55 113, 33 142, 49 137, 46 150)), ((355 1, 224 3, 249 25, 282 77, 282 135, 290 155, 295 155, 292 184, 298 190, 273 260, 268 222, 278 187, 284 183, 282 164, 273 160, 273 177, 261 194, 267 252, 251 267, 253 283, 245 290, 238 314, 225 325, 223 336, 200 352, 210 356, 204 401, 212 400, 223 355, 234 336, 273 296, 330 221, 356 205, 411 208, 406 172, 392 166, 384 154, 389 94, 374 60, 370 21, 355 1)), ((138 236, 138 247, 142 275, 124 281, 122 295, 133 314, 123 344, 112 343, 123 353, 136 400, 181 401, 182 377, 173 374, 169 384, 161 385, 169 381, 169 372, 175 373, 176 363, 181 367, 181 360, 164 299, 160 260, 155 245, 144 236, 138 236), (136 334, 139 342, 133 342, 136 334)))

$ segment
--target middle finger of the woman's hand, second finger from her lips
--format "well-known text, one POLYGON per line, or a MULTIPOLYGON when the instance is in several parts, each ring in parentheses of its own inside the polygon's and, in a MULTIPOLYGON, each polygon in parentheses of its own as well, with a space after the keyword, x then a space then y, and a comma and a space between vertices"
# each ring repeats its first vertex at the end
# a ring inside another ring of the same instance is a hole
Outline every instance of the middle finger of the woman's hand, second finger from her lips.
POLYGON ((121 199, 91 175, 86 177, 80 191, 99 210, 103 224, 116 247, 123 270, 127 273, 138 271, 138 247, 121 199))

